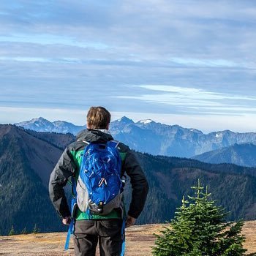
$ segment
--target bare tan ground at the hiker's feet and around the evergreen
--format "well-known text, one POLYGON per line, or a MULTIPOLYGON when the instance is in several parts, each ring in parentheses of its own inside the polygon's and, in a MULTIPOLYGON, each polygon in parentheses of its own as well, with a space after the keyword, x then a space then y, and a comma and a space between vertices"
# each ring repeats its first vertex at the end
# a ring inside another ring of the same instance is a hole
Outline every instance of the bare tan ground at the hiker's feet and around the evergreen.
MULTIPOLYGON (((153 233, 158 233, 162 225, 133 226, 127 229, 128 256, 151 255, 151 246, 154 246, 153 233)), ((244 247, 247 255, 256 255, 256 221, 246 222, 243 228, 246 236, 244 247)), ((18 236, 0 236, 1 256, 69 256, 74 255, 72 239, 70 249, 64 251, 64 242, 67 233, 39 233, 18 236)), ((99 253, 97 253, 99 255, 99 253)))

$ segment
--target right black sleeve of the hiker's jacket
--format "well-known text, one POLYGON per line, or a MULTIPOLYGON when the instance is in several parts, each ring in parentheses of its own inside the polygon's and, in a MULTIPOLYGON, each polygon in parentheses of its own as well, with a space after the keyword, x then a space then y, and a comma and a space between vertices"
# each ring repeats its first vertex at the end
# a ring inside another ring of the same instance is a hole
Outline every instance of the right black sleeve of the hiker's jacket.
POLYGON ((132 200, 129 205, 128 215, 137 219, 143 211, 146 197, 148 194, 148 181, 143 173, 138 159, 135 154, 129 149, 124 160, 124 170, 130 177, 132 184, 132 200))

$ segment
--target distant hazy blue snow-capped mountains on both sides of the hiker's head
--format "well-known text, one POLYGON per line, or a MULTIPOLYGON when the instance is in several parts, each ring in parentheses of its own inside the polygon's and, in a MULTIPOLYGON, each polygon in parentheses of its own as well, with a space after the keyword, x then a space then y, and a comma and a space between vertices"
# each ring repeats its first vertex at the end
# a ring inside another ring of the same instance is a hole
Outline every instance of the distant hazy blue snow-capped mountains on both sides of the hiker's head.
MULTIPOLYGON (((16 125, 37 132, 70 132, 74 135, 85 128, 64 121, 50 122, 44 118, 16 125)), ((151 119, 134 122, 126 116, 111 122, 110 132, 116 140, 126 143, 136 151, 173 157, 193 157, 235 143, 256 144, 255 132, 238 133, 225 130, 204 134, 197 129, 160 124, 151 119)))

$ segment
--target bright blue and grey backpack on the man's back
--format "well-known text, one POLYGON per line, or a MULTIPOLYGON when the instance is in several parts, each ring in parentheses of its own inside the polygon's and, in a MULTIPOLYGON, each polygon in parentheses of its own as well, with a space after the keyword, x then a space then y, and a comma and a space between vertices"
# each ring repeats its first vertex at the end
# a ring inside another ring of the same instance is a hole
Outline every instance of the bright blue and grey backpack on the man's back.
POLYGON ((89 143, 83 151, 77 183, 80 211, 105 215, 121 205, 121 156, 118 141, 89 143))

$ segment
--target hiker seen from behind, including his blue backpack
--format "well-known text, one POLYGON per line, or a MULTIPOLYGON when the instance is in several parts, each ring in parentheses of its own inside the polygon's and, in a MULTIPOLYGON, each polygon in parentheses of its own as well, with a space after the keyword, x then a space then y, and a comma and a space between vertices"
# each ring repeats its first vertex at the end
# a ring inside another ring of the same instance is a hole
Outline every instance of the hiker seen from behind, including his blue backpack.
POLYGON ((101 256, 121 255, 124 225, 135 224, 148 193, 148 183, 135 154, 128 146, 113 140, 108 132, 109 125, 108 110, 91 107, 87 113, 87 129, 79 132, 78 140, 67 146, 50 175, 53 206, 64 225, 74 221, 77 256, 95 255, 98 241, 101 256), (108 159, 105 161, 105 158, 108 159), (132 184, 127 214, 122 194, 126 174, 132 184), (70 179, 76 196, 72 214, 64 193, 64 186, 70 179))

